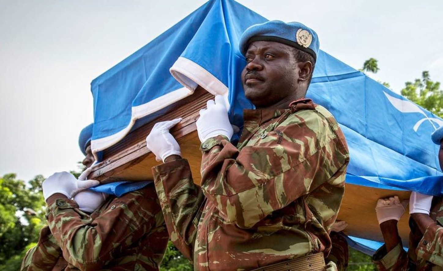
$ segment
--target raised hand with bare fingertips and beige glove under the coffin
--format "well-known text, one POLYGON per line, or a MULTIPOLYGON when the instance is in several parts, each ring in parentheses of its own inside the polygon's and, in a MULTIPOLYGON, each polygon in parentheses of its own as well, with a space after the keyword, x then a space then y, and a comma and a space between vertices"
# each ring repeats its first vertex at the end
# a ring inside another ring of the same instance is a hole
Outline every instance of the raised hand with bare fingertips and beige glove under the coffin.
POLYGON ((377 206, 375 207, 378 224, 391 219, 395 219, 397 221, 400 220, 401 216, 404 214, 404 208, 406 205, 408 205, 408 201, 404 200, 400 202, 398 196, 379 198, 377 201, 377 206))

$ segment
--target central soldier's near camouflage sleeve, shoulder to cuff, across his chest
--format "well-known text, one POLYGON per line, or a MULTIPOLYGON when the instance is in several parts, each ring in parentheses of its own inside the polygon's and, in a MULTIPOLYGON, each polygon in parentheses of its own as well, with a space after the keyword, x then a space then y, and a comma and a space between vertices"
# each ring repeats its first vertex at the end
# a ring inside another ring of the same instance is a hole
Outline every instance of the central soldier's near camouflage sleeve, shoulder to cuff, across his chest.
MULTIPOLYGON (((339 195, 339 206, 349 153, 334 129, 338 125, 305 110, 241 150, 224 136, 206 140, 201 173, 207 200, 228 223, 245 229, 320 185, 339 195)), ((323 222, 332 225, 335 206, 328 207, 331 218, 323 222)))

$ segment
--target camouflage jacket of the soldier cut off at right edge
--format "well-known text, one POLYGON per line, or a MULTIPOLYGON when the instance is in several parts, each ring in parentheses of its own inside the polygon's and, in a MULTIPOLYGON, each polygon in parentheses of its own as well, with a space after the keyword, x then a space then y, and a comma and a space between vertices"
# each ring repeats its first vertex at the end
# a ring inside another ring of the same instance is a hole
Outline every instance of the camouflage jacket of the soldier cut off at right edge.
POLYGON ((443 270, 443 198, 434 197, 430 216, 436 221, 421 233, 415 221, 409 219, 409 249, 402 245, 386 252, 385 245, 379 248, 373 261, 381 271, 443 270))

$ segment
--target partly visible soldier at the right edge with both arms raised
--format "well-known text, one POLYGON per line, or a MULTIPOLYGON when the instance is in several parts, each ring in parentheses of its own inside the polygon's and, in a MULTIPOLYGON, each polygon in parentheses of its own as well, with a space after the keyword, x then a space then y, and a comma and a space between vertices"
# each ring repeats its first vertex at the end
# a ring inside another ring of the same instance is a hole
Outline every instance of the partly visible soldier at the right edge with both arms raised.
MULTIPOLYGON (((439 164, 443 169, 443 126, 431 135, 440 146, 439 164)), ((409 249, 403 249, 397 222, 404 213, 404 202, 397 196, 381 198, 376 211, 385 244, 373 255, 379 270, 443 270, 443 198, 412 192, 409 198, 409 249)))

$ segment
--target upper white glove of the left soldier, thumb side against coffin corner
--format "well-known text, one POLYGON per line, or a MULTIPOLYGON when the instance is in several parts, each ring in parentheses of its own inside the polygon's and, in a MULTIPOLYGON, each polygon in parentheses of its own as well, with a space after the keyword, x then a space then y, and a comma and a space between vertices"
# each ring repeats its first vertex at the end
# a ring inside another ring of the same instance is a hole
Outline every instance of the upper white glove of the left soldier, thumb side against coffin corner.
POLYGON ((57 172, 49 176, 42 184, 45 201, 55 193, 61 193, 67 198, 72 198, 78 192, 96 186, 97 180, 78 180, 68 172, 57 172))

